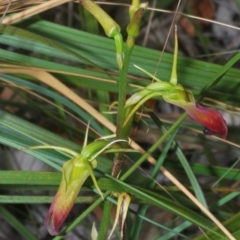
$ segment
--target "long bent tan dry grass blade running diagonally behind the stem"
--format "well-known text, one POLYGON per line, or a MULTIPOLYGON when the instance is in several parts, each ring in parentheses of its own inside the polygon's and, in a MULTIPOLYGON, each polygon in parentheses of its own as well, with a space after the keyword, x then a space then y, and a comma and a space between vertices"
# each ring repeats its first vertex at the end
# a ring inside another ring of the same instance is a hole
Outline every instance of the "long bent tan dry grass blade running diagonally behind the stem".
MULTIPOLYGON (((30 75, 36 79, 38 79, 40 82, 52 87, 53 89, 57 90, 64 96, 66 96, 68 99, 72 100, 75 104, 77 104, 79 107, 84 109, 86 112, 91 114, 95 119, 97 119, 103 126, 108 128, 111 132, 116 132, 116 126, 110 122, 107 118, 105 118, 101 113, 99 113, 95 108, 93 108, 90 104, 88 104, 86 101, 84 101, 80 96, 78 96, 76 93, 74 93, 71 89, 69 89, 67 86, 65 86, 62 82, 60 82, 57 78, 52 76, 50 73, 46 71, 41 70, 31 70, 31 69, 1 69, 2 73, 22 73, 26 75, 30 75)), ((145 153, 145 150, 142 149, 136 142, 130 139, 130 144, 133 149, 141 152, 142 154, 145 153)), ((156 160, 149 156, 148 161, 151 164, 155 164, 156 160)), ((160 170, 163 172, 163 174, 173 183, 175 184, 192 202, 196 204, 196 206, 199 207, 199 209, 206 214, 206 216, 211 219, 216 226, 218 226, 222 232, 230 239, 230 240, 236 240, 234 236, 222 225, 222 223, 207 209, 205 208, 197 199, 196 197, 188 191, 188 189, 182 185, 178 179, 176 179, 166 168, 161 167, 160 170)))

